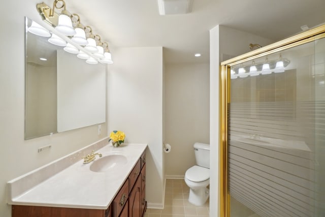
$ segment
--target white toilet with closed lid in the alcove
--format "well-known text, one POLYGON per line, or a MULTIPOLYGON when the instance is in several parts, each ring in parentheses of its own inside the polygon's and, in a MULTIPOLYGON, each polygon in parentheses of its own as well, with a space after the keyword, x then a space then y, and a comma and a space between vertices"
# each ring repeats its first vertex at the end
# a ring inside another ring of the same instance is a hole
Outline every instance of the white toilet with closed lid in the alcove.
POLYGON ((194 153, 197 165, 185 172, 185 182, 189 187, 188 201, 191 204, 201 206, 209 198, 210 183, 210 145, 194 143, 194 153))

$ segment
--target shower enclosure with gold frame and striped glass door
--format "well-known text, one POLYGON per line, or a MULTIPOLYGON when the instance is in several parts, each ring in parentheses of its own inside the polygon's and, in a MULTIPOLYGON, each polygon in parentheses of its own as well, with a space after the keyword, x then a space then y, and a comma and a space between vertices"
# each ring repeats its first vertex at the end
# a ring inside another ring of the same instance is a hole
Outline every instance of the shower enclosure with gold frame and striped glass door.
POLYGON ((325 216, 325 25, 221 63, 220 216, 325 216))

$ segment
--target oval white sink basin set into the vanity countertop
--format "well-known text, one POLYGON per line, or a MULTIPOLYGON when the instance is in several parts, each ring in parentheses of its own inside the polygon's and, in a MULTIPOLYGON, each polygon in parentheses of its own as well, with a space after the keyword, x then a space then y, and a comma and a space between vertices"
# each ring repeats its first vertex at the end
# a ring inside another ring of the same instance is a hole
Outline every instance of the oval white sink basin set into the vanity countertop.
POLYGON ((107 172, 111 169, 121 167, 127 163, 127 159, 122 154, 110 154, 108 156, 96 159, 91 165, 93 172, 107 172))

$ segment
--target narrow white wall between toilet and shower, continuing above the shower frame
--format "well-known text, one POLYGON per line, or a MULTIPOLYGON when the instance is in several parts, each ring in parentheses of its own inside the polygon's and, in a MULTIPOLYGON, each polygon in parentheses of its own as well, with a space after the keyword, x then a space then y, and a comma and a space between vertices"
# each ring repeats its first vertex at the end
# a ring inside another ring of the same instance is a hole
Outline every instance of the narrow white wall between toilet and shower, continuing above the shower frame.
POLYGON ((210 216, 219 216, 219 66, 228 57, 251 51, 249 44, 266 46, 269 39, 217 25, 210 29, 210 216))

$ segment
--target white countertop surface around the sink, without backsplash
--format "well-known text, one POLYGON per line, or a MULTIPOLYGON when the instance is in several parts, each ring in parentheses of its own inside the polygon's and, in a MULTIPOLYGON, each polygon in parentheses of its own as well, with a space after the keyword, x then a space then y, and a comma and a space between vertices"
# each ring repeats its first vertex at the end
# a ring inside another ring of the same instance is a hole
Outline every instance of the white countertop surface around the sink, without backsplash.
POLYGON ((21 195, 9 198, 8 203, 107 209, 146 147, 147 144, 123 144, 120 147, 106 145, 95 152, 105 157, 118 151, 127 158, 126 164, 107 172, 93 172, 89 167, 100 159, 99 156, 89 164, 83 164, 83 160, 80 160, 21 195))

